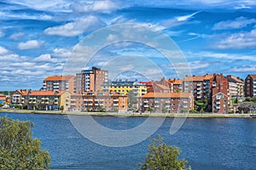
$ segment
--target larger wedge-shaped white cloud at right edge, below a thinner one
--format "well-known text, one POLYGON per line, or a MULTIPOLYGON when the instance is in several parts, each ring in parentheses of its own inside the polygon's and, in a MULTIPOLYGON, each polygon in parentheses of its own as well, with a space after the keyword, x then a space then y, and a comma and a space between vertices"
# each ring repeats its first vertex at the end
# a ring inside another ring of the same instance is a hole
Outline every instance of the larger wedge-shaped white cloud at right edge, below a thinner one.
POLYGON ((229 37, 213 44, 212 48, 218 49, 241 49, 256 47, 256 28, 249 32, 231 34, 229 37))

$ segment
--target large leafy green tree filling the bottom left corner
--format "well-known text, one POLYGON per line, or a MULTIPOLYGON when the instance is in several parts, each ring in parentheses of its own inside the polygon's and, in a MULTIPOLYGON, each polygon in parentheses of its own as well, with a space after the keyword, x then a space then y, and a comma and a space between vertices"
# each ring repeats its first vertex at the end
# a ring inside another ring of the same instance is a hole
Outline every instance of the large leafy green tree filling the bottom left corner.
POLYGON ((32 122, 0 117, 0 169, 49 169, 49 152, 32 139, 32 122))

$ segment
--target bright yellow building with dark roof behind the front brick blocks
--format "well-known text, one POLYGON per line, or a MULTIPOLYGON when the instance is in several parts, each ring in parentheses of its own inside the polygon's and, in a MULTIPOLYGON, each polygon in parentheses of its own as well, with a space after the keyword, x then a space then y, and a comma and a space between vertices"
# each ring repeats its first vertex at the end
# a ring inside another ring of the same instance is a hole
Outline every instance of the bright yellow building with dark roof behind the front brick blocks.
POLYGON ((116 82, 104 82, 102 85, 102 92, 107 93, 119 93, 127 95, 131 90, 136 97, 140 97, 143 94, 147 94, 147 85, 137 81, 122 80, 116 82))

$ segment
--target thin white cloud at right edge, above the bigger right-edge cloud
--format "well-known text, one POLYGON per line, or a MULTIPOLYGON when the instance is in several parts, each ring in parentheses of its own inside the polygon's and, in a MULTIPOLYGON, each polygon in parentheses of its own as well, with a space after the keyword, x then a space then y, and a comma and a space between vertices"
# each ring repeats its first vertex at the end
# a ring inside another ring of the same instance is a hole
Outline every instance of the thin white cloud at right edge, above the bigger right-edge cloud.
POLYGON ((212 30, 239 29, 254 23, 256 23, 255 19, 247 19, 241 16, 236 18, 236 20, 225 20, 218 22, 213 26, 212 30))

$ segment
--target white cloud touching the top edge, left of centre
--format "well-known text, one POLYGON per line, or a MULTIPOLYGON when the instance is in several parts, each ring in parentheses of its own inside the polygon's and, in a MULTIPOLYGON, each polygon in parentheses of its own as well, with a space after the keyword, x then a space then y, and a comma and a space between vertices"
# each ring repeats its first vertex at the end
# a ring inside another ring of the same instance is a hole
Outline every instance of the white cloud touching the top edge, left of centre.
POLYGON ((112 1, 108 0, 97 0, 93 3, 73 3, 72 5, 75 11, 79 12, 92 12, 92 11, 100 11, 100 12, 108 12, 114 9, 117 9, 118 6, 114 4, 112 1))

